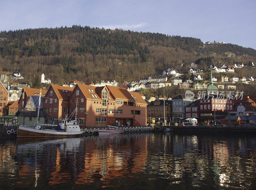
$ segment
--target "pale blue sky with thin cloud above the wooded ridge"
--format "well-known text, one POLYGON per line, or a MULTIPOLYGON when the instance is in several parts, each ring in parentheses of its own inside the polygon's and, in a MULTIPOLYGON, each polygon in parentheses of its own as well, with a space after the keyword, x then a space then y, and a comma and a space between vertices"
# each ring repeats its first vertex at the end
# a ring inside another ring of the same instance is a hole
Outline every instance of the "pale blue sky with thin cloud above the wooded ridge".
POLYGON ((0 31, 90 26, 256 49, 256 0, 0 0, 0 31))

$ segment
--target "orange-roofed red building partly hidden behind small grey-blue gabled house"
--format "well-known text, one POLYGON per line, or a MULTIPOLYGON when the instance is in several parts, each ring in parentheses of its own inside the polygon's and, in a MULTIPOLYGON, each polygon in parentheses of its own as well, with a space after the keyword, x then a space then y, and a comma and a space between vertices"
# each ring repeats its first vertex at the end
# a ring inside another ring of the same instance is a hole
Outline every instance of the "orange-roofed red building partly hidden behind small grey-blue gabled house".
MULTIPOLYGON (((21 91, 21 96, 20 96, 20 99, 19 99, 19 102, 18 102, 19 110, 24 110, 25 109, 30 96, 40 96, 40 90, 41 89, 39 89, 39 88, 25 88, 25 87, 23 87, 23 89, 21 91)), ((46 92, 47 92, 47 90, 42 89, 41 96, 44 97, 46 92)))

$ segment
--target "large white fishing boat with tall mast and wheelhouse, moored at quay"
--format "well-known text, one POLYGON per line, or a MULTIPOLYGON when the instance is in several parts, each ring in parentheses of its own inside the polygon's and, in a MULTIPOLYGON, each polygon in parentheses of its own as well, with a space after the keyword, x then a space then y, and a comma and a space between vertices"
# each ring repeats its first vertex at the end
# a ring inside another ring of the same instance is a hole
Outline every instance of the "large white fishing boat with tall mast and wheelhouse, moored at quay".
POLYGON ((66 115, 65 118, 60 119, 59 125, 45 125, 38 124, 39 107, 40 98, 36 126, 32 127, 27 125, 19 125, 17 138, 68 137, 78 136, 84 133, 84 131, 80 129, 79 125, 77 125, 76 119, 71 120, 72 116, 74 115, 74 113, 76 113, 77 109, 75 109, 69 117, 66 115))

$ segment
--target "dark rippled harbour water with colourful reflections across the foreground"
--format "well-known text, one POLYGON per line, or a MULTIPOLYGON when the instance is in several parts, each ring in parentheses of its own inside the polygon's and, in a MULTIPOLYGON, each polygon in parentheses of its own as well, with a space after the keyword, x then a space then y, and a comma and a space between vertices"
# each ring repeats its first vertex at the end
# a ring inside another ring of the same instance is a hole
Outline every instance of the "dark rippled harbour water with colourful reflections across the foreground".
POLYGON ((256 188, 256 137, 161 133, 0 141, 5 188, 256 188))

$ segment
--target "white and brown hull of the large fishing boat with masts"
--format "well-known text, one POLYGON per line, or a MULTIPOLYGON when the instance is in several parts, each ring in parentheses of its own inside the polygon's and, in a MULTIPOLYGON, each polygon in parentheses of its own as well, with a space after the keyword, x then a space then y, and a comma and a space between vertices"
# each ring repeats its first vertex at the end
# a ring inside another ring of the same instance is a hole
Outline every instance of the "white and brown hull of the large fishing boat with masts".
POLYGON ((40 130, 35 128, 26 128, 19 126, 17 138, 45 138, 45 137, 69 137, 79 136, 83 131, 66 132, 54 130, 40 130))

